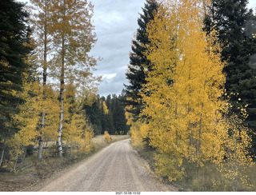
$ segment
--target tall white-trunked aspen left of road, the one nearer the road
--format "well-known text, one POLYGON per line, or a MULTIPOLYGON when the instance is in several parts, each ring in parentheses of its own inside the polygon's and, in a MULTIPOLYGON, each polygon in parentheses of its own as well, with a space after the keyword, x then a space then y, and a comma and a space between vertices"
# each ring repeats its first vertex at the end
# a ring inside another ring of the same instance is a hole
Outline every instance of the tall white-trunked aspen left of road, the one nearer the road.
MULTIPOLYGON (((96 42, 91 22, 93 6, 82 0, 54 1, 53 41, 56 47, 56 65, 58 64, 60 121, 58 127, 58 153, 62 157, 62 129, 64 122, 64 93, 65 82, 72 78, 81 84, 92 84, 98 78, 92 77, 91 70, 96 60, 89 52, 96 42), (81 82, 82 81, 82 82, 81 82)), ((89 87, 90 89, 90 87, 89 87)))

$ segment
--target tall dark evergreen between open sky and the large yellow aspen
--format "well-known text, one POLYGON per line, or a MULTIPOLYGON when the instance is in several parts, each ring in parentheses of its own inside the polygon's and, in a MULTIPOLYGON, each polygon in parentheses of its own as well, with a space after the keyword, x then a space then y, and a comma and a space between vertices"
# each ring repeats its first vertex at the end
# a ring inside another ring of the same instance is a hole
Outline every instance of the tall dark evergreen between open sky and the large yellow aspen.
POLYGON ((132 41, 130 52, 130 65, 126 73, 126 78, 130 85, 126 86, 126 105, 132 105, 131 109, 127 111, 134 114, 134 119, 142 110, 141 92, 142 86, 146 84, 146 74, 143 66, 150 70, 150 61, 146 59, 145 52, 147 46, 150 44, 148 35, 146 34, 146 26, 154 18, 154 13, 158 10, 158 3, 156 0, 147 0, 145 7, 142 8, 143 14, 138 18, 138 31, 136 38, 132 41), (143 46, 144 45, 144 46, 143 46), (143 65, 143 66, 142 66, 143 65))

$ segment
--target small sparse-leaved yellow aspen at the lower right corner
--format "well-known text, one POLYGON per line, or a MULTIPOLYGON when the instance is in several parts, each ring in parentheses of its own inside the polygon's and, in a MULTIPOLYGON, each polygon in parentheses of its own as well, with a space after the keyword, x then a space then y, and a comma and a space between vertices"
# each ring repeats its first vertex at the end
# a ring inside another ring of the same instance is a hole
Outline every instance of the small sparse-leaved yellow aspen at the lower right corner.
MULTIPOLYGON (((241 106, 241 105, 240 105, 241 106)), ((230 103, 226 103, 223 110, 224 117, 219 121, 219 128, 225 129, 225 137, 220 139, 222 145, 222 157, 214 159, 214 163, 218 165, 218 171, 222 173, 225 179, 222 185, 226 186, 226 190, 238 189, 238 183, 245 185, 247 188, 254 187, 250 184, 246 175, 246 169, 250 169, 254 165, 249 149, 251 147, 251 137, 249 129, 243 125, 242 121, 248 116, 246 107, 239 108, 240 115, 231 113, 230 103)), ((216 181, 215 181, 216 182, 216 181)))

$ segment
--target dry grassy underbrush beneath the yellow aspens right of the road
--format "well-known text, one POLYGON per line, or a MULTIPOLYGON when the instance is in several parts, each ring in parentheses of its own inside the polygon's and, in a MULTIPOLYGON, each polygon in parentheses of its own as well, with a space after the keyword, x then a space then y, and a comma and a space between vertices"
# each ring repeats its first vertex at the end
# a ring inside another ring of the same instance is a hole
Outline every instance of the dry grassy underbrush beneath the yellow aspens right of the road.
MULTIPOLYGON (((156 150, 137 146, 134 147, 138 153, 150 164, 151 169, 155 169, 154 154, 156 150)), ((231 192, 233 191, 232 182, 223 177, 218 171, 218 167, 213 163, 206 163, 202 167, 195 167, 190 163, 183 162, 185 168, 184 177, 180 181, 172 181, 161 177, 163 181, 174 185, 179 191, 194 191, 194 192, 231 192)), ((256 191, 256 165, 252 165, 243 173, 246 176, 248 183, 241 180, 237 181, 238 192, 256 191)))

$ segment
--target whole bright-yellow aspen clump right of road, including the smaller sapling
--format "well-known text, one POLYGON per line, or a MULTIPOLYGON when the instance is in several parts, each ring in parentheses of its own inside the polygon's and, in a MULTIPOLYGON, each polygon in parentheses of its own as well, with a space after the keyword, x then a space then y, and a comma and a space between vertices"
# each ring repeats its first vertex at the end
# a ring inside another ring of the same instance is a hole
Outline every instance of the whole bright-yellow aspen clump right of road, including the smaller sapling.
POLYGON ((141 94, 146 120, 131 132, 133 139, 150 138, 150 145, 157 149, 156 173, 169 181, 182 179, 187 163, 194 169, 208 161, 222 165, 227 155, 239 165, 250 161, 246 129, 235 125, 236 117, 222 122, 227 112, 222 98, 224 63, 218 32, 202 31, 206 5, 206 1, 162 1, 148 25, 146 58, 152 70, 146 70, 141 94), (230 149, 241 158, 228 153, 230 149))

